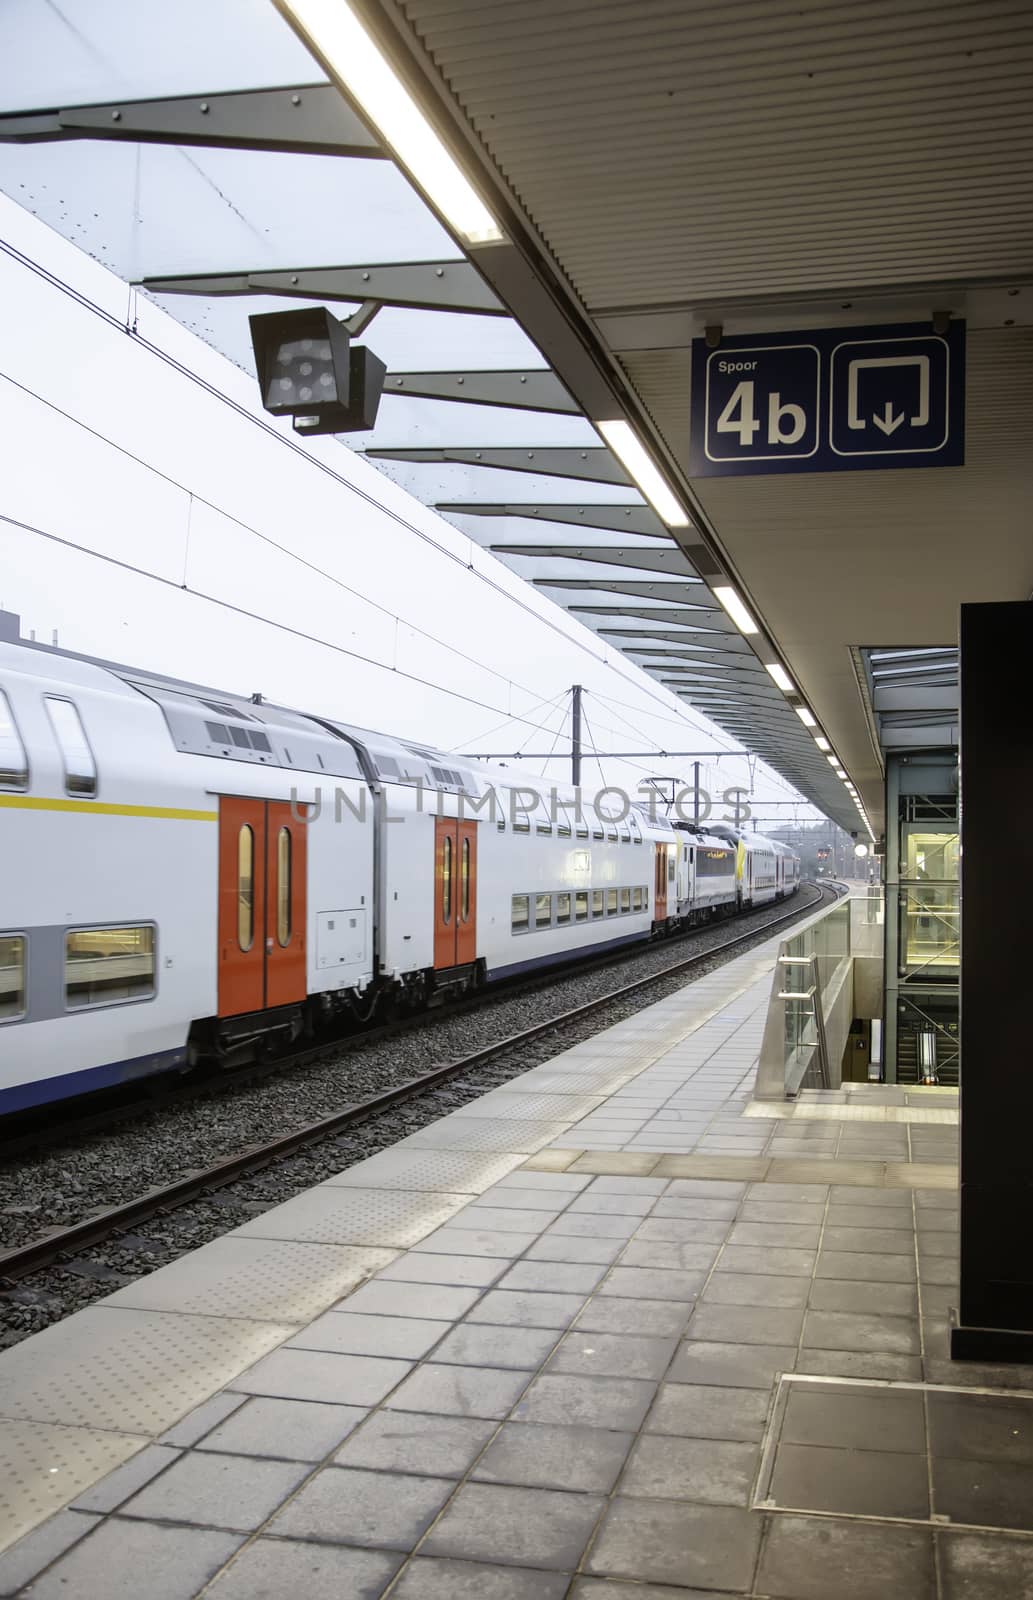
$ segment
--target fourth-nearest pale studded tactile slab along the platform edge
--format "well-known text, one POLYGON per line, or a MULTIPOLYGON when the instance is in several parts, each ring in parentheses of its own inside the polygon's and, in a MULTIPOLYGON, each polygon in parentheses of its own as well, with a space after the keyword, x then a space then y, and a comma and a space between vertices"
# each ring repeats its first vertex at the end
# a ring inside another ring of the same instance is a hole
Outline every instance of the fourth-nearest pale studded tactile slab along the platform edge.
POLYGON ((238 1238, 408 1250, 462 1210, 469 1195, 320 1184, 237 1229, 238 1238))

